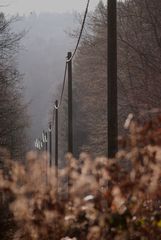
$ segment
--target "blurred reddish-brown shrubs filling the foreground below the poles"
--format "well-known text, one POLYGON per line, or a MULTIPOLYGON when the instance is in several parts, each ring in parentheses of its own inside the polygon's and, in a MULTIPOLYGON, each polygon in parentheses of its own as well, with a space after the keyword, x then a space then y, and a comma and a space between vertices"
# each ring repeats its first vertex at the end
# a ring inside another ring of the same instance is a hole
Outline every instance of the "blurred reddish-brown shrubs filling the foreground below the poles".
POLYGON ((23 166, 1 150, 11 239, 160 239, 161 116, 143 124, 130 117, 125 126, 116 159, 68 154, 65 169, 46 172, 45 153, 28 153, 23 166))

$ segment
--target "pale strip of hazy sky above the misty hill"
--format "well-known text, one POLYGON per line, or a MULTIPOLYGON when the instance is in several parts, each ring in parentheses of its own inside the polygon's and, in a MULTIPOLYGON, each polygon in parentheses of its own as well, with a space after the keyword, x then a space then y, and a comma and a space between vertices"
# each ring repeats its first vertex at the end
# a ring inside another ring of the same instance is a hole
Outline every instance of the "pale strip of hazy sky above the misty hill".
MULTIPOLYGON (((106 1, 106 0, 104 0, 106 1)), ((30 12, 66 12, 85 9, 87 0, 1 0, 2 11, 9 14, 29 14, 30 12)), ((91 0, 90 9, 93 9, 99 0, 91 0)))

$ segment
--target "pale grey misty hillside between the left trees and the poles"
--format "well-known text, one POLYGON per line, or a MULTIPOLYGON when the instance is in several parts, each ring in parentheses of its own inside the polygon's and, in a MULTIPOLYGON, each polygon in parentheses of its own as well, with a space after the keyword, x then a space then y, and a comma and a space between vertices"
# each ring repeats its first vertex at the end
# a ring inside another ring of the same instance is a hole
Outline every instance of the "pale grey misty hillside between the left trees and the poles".
POLYGON ((53 96, 58 95, 63 81, 65 57, 74 47, 68 33, 77 26, 75 16, 69 13, 32 13, 16 23, 17 32, 26 31, 18 64, 29 102, 31 145, 48 126, 53 96))

